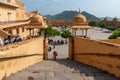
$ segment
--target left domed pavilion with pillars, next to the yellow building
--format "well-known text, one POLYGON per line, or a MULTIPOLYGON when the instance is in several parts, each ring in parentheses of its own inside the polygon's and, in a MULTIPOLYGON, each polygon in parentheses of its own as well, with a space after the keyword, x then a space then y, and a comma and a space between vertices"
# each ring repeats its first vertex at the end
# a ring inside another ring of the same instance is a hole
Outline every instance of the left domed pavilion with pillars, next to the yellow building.
POLYGON ((45 17, 39 14, 37 11, 32 12, 32 17, 29 18, 29 24, 26 28, 29 30, 30 35, 34 35, 35 31, 43 32, 47 28, 45 17))

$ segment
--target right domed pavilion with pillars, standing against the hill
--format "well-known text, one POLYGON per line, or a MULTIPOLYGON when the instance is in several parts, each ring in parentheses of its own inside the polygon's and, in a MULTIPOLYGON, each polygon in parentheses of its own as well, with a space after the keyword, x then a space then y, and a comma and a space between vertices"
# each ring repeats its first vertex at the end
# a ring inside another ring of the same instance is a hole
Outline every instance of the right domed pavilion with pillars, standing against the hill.
POLYGON ((87 19, 84 15, 82 15, 79 11, 79 13, 74 17, 73 19, 73 25, 72 26, 72 33, 73 36, 76 36, 76 31, 78 29, 82 30, 82 37, 87 37, 87 31, 90 28, 88 25, 87 19))

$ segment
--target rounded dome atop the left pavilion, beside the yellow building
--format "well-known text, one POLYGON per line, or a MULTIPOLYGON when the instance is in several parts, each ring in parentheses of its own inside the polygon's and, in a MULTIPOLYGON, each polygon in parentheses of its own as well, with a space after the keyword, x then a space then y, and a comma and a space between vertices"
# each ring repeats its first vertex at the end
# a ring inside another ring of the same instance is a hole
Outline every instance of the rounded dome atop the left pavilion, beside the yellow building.
POLYGON ((44 22, 43 16, 38 13, 35 13, 35 15, 30 18, 30 25, 41 26, 42 22, 44 22))

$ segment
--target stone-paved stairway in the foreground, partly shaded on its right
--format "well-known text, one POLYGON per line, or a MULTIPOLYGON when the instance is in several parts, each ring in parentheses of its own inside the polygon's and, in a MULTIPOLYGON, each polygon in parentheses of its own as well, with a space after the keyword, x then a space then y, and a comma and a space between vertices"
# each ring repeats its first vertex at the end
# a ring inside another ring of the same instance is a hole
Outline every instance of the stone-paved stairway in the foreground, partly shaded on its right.
POLYGON ((59 59, 46 60, 12 74, 5 80, 120 80, 88 65, 59 59))

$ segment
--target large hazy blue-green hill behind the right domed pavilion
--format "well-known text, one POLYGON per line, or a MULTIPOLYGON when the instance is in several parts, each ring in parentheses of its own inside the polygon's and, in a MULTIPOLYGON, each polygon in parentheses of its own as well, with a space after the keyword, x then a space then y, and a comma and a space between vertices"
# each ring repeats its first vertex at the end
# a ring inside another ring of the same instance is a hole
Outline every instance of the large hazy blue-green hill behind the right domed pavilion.
MULTIPOLYGON (((77 14, 78 14, 77 11, 63 11, 62 13, 56 15, 46 15, 46 17, 48 20, 59 20, 59 19, 72 20, 77 14)), ((82 14, 87 18, 87 20, 100 20, 98 17, 86 11, 83 11, 82 14)))

